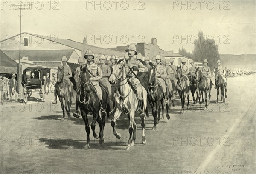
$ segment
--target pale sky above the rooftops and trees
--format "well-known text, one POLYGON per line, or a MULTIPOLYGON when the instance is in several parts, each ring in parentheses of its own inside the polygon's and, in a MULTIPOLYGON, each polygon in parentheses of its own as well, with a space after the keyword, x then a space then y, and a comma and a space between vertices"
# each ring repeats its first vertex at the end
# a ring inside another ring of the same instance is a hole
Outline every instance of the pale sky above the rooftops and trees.
MULTIPOLYGON (((11 2, 13 5, 19 3, 11 2)), ((29 4, 29 1, 23 2, 29 4)), ((192 51, 192 42, 198 30, 202 30, 205 35, 214 37, 220 54, 256 54, 255 0, 144 0, 136 1, 136 6, 134 0, 97 3, 99 6, 94 6, 94 0, 34 1, 31 9, 22 11, 21 32, 58 35, 61 39, 77 42, 87 37, 92 39, 87 39, 88 44, 103 48, 128 45, 135 38, 135 42, 148 43, 155 37, 163 50, 178 52, 182 46, 192 51), (125 10, 127 4, 128 9, 125 10), (139 10, 140 7, 142 9, 139 10), (102 39, 95 40, 95 35, 97 38, 102 35, 102 39), (108 35, 112 39, 110 43, 108 35)), ((20 11, 9 9, 9 5, 9 0, 1 0, 0 40, 20 32, 20 11)))

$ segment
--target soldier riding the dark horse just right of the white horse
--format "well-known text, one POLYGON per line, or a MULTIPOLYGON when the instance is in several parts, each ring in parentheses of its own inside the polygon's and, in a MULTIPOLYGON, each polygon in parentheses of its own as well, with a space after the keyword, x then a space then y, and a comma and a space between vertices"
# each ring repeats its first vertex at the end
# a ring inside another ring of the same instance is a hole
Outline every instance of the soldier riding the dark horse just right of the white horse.
POLYGON ((156 64, 157 64, 155 67, 157 82, 158 82, 159 86, 162 86, 162 88, 163 88, 163 95, 164 95, 164 97, 166 99, 166 103, 167 103, 168 95, 166 93, 166 78, 168 78, 168 76, 167 76, 166 68, 163 65, 161 65, 162 59, 159 54, 157 54, 155 59, 156 59, 156 64))

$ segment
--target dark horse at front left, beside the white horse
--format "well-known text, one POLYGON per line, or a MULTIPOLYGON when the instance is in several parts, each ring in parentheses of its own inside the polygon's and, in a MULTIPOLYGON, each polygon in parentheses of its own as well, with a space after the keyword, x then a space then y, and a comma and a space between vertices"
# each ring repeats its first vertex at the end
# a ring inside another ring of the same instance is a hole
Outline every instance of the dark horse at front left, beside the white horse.
POLYGON ((87 133, 86 145, 84 146, 84 150, 90 148, 90 126, 88 121, 88 113, 91 112, 93 114, 93 121, 91 123, 91 129, 93 130, 93 137, 99 138, 99 143, 104 143, 103 132, 105 126, 105 116, 109 117, 110 105, 108 103, 108 93, 104 87, 102 89, 102 99, 103 99, 103 108, 107 112, 106 114, 101 114, 101 104, 99 98, 96 93, 95 87, 90 83, 90 71, 87 69, 87 66, 81 66, 80 77, 80 94, 79 95, 79 108, 84 119, 85 123, 85 131, 87 133), (96 121, 99 124, 99 134, 95 132, 95 124, 96 121))

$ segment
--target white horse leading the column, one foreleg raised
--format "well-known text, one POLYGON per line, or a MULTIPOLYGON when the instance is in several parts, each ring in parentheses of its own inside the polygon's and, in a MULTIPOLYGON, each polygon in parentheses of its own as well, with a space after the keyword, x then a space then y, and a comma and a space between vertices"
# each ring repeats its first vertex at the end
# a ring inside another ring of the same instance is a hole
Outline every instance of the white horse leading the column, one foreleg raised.
MULTIPOLYGON (((125 60, 119 61, 116 63, 116 65, 113 65, 113 72, 111 76, 109 77, 109 82, 111 84, 117 83, 117 90, 116 95, 114 97, 116 112, 111 120, 111 126, 113 127, 113 133, 116 136, 116 138, 120 139, 121 134, 118 133, 115 129, 115 123, 116 120, 120 117, 121 113, 124 112, 125 115, 128 115, 128 118, 130 119, 130 126, 129 126, 129 133, 130 138, 128 141, 128 146, 126 146, 126 150, 131 149, 131 146, 135 145, 136 140, 136 129, 137 125, 134 121, 135 112, 138 112, 139 107, 139 101, 136 97, 136 93, 132 90, 130 84, 128 83, 128 79, 126 76, 125 71, 126 65, 125 60)), ((130 73, 130 72, 129 72, 130 73)), ((143 104, 144 104, 144 111, 147 107, 147 91, 144 87, 142 87, 142 96, 143 96, 143 104)), ((145 138, 145 115, 141 116, 141 127, 142 127, 142 143, 146 144, 146 138, 145 138)))

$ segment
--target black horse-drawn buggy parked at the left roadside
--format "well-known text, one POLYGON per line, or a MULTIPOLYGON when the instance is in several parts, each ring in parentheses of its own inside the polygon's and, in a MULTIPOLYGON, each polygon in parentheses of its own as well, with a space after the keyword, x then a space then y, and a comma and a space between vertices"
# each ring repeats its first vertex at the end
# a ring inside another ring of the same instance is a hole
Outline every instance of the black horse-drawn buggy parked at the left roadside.
POLYGON ((23 71, 21 84, 24 103, 28 102, 28 97, 30 97, 32 93, 39 94, 42 101, 44 101, 43 70, 40 67, 27 67, 23 71))

